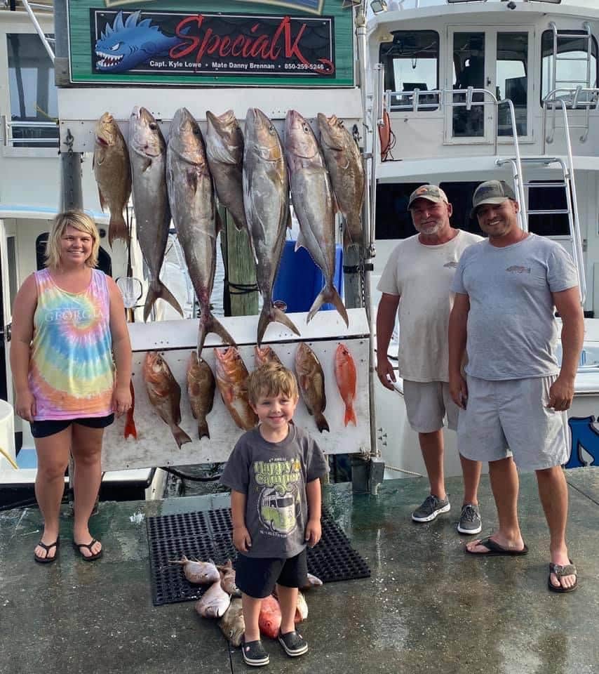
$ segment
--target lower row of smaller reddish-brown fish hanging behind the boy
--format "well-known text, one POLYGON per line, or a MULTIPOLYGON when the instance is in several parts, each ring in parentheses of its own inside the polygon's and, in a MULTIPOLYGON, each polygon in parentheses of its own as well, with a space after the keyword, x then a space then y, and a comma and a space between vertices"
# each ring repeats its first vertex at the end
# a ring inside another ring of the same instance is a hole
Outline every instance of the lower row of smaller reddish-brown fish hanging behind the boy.
MULTIPOLYGON (((198 437, 210 438, 206 416, 213 409, 215 389, 218 387, 222 402, 227 407, 231 418, 242 430, 250 430, 257 424, 258 418, 248 401, 248 369, 236 347, 215 348, 215 374, 203 358, 198 358, 195 351, 189 355, 186 380, 187 394, 191 406, 191 414, 198 422, 198 437)), ((255 347, 256 365, 265 362, 281 364, 274 350, 267 346, 255 347)), ((330 430, 324 416, 326 407, 325 377, 323 368, 313 350, 302 342, 295 352, 295 376, 297 377, 300 395, 309 413, 314 416, 318 430, 330 430)), ((181 427, 181 387, 165 359, 157 351, 148 351, 144 357, 142 377, 146 385, 149 402, 159 417, 168 425, 173 433, 177 446, 191 442, 181 427)), ((356 364, 349 349, 339 343, 335 351, 335 381, 339 395, 345 404, 344 424, 357 425, 354 411, 356 397, 356 364)), ((128 416, 125 437, 137 433, 130 432, 133 422, 133 411, 128 416)))

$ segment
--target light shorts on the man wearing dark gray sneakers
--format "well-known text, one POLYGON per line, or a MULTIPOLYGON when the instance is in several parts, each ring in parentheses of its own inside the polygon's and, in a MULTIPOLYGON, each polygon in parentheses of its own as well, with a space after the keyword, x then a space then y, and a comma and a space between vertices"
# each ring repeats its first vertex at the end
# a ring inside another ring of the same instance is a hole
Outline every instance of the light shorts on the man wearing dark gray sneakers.
POLYGON ((432 433, 443 428, 443 417, 447 415, 447 426, 457 428, 459 407, 453 402, 446 381, 403 380, 403 397, 408 412, 408 422, 417 433, 432 433))

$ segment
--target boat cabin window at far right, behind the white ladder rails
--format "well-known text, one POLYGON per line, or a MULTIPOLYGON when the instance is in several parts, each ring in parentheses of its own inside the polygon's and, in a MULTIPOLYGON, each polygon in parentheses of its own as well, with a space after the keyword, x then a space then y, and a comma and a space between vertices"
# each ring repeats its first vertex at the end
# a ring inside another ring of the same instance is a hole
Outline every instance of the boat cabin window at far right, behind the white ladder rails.
MULTIPOLYGON (((591 40, 580 30, 560 30, 557 37, 557 52, 554 53, 553 31, 546 30, 541 36, 541 105, 553 89, 597 87, 597 40, 591 40)), ((570 98, 568 91, 558 91, 556 98, 570 98)), ((593 94, 581 93, 578 107, 593 100, 593 94)))

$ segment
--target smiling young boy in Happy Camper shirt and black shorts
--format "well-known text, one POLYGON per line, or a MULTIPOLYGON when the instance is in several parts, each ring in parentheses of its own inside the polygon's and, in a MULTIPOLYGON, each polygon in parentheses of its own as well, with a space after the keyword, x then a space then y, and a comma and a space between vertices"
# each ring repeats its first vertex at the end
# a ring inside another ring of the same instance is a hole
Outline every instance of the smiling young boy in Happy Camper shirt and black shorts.
POLYGON ((307 432, 293 423, 295 376, 267 363, 248 378, 248 399, 259 425, 238 440, 221 482, 231 488, 233 543, 238 550, 236 585, 242 593, 243 660, 269 663, 260 641, 262 599, 275 588, 281 604, 278 640, 289 656, 308 645, 295 631, 298 588, 307 582, 306 544, 321 538, 321 483, 328 466, 307 432))

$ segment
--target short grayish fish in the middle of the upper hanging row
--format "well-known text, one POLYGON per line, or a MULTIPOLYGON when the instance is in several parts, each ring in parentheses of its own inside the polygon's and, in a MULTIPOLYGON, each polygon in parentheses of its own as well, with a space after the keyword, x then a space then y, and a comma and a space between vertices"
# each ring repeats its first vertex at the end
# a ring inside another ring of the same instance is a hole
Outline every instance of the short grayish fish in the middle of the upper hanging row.
POLYGON ((220 203, 238 230, 248 227, 243 210, 243 133, 233 113, 206 112, 206 151, 220 203))

